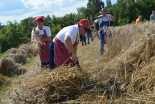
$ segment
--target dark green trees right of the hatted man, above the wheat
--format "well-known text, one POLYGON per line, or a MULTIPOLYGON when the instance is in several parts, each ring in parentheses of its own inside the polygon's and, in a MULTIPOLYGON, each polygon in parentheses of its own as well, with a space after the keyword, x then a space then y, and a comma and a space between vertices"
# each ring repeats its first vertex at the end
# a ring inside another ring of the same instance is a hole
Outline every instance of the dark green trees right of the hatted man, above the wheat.
POLYGON ((154 5, 155 0, 117 0, 117 3, 109 8, 108 12, 116 18, 115 25, 122 25, 122 23, 135 21, 139 15, 142 15, 143 19, 149 20, 154 5))

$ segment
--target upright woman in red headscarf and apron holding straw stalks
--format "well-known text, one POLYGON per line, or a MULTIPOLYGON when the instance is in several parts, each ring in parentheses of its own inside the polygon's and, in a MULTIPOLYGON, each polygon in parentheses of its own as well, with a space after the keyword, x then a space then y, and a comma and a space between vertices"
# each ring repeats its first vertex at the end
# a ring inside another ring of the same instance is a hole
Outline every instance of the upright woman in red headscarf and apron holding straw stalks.
MULTIPOLYGON (((48 26, 44 26, 45 19, 43 16, 37 16, 34 20, 37 23, 36 33, 39 38, 39 56, 41 60, 41 68, 49 64, 49 44, 51 42, 51 30, 48 26), (42 43, 42 44, 41 44, 42 43)), ((34 39, 34 31, 31 34, 31 40, 34 39)))

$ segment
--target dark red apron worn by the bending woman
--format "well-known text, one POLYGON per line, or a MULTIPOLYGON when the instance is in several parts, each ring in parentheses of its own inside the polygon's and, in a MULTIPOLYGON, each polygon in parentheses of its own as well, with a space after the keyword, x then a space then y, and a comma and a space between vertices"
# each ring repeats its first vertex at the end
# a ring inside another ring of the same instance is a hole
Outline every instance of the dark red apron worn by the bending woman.
MULTIPOLYGON (((76 41, 73 44, 73 47, 76 47, 78 45, 78 36, 76 37, 76 41)), ((69 65, 70 63, 73 63, 73 61, 69 58, 70 52, 65 47, 65 44, 61 42, 57 37, 55 37, 54 41, 54 62, 57 66, 61 65, 69 65)))

